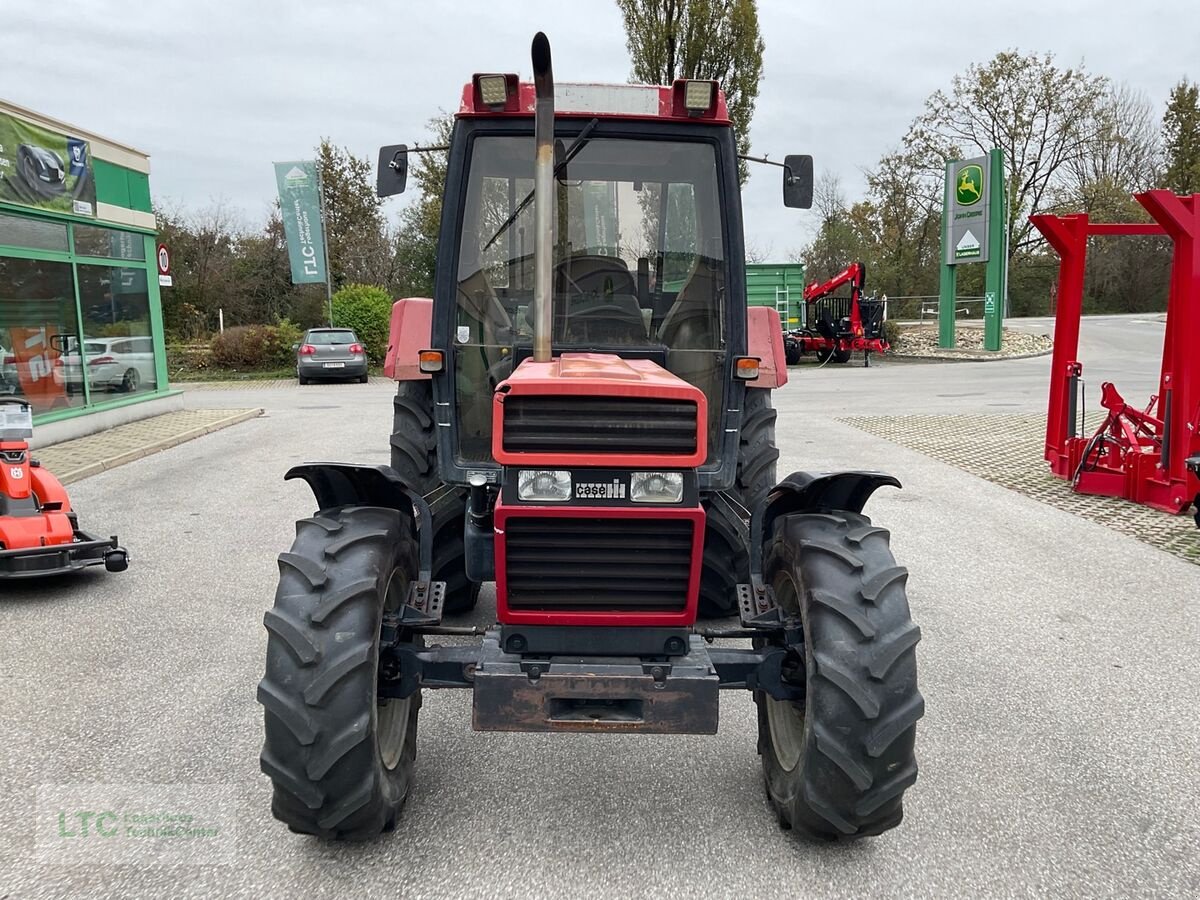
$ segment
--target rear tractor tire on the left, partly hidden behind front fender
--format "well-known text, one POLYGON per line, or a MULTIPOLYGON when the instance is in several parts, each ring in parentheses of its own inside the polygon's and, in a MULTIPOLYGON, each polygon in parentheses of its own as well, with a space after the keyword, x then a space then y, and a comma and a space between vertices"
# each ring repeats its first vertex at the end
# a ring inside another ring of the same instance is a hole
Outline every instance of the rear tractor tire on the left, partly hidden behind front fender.
MULTIPOLYGON (((400 382, 392 398, 391 467, 422 497, 442 486, 438 478, 437 426, 433 422, 433 385, 400 382)), ((442 610, 467 612, 479 601, 479 583, 467 577, 463 529, 467 491, 458 502, 439 506, 433 521, 433 580, 446 583, 442 610)))

